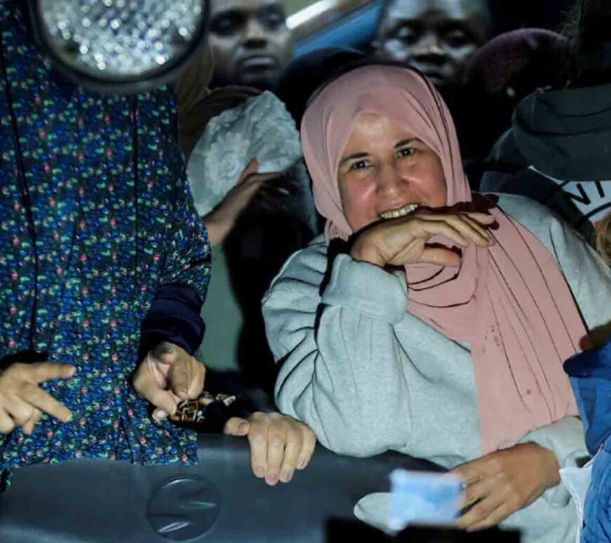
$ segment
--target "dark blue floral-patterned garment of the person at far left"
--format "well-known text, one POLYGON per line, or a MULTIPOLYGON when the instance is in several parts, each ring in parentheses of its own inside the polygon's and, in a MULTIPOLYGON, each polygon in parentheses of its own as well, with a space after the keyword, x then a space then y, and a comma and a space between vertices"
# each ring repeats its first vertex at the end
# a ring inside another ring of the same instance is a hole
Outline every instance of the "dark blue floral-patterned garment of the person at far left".
POLYGON ((67 83, 0 0, 0 358, 72 364, 42 384, 72 410, 32 436, 0 435, 0 469, 104 457, 195 461, 195 434, 150 418, 131 376, 140 325, 162 284, 204 299, 210 249, 162 89, 98 96, 67 83))

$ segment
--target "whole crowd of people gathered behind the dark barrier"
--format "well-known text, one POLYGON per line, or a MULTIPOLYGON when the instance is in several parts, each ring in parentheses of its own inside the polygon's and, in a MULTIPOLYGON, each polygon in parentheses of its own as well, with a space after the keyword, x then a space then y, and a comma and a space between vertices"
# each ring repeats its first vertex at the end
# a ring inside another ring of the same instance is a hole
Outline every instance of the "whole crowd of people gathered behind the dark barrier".
POLYGON ((0 491, 224 432, 269 485, 396 450, 464 481, 460 528, 611 542, 611 6, 495 36, 384 0, 369 50, 293 58, 280 0, 210 4, 122 96, 0 0, 0 491))

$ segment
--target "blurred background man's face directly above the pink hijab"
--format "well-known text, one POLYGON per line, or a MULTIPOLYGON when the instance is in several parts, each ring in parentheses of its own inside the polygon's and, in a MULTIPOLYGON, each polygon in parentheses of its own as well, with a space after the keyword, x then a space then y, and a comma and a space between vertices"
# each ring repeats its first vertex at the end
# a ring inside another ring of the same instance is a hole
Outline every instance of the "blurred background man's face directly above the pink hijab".
POLYGON ((377 54, 409 63, 443 90, 461 84, 466 61, 489 32, 483 0, 390 0, 377 54))

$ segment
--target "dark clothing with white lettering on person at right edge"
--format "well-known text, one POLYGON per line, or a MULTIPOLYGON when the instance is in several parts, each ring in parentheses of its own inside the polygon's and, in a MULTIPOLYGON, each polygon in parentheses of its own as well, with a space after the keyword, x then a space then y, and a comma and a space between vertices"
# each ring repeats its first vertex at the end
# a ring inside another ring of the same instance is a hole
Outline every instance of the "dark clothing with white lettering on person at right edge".
POLYGON ((611 206, 611 85, 537 91, 492 151, 483 192, 547 205, 591 240, 611 206))

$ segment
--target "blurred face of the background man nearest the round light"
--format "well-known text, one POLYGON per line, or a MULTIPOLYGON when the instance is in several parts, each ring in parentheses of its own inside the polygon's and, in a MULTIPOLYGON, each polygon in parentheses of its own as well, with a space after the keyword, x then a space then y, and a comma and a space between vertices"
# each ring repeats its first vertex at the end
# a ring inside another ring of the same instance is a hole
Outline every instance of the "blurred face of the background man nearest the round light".
POLYGON ((293 56, 280 0, 213 0, 209 43, 213 86, 271 89, 293 56))

